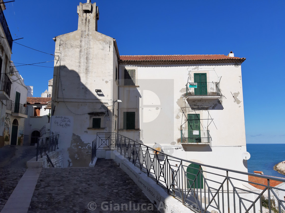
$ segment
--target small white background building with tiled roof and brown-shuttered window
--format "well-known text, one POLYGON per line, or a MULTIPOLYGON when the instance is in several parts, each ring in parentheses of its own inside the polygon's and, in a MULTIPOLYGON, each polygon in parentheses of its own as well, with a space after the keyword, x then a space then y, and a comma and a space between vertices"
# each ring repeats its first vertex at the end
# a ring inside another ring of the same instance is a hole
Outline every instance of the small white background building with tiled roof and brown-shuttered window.
POLYGON ((28 115, 25 122, 24 145, 35 145, 39 137, 50 133, 51 98, 27 97, 28 115))

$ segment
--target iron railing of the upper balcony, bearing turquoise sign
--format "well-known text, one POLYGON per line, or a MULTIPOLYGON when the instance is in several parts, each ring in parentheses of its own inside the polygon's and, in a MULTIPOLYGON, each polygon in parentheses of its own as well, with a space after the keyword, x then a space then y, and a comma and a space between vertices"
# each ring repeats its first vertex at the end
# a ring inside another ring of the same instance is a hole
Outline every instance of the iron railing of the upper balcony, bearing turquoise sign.
POLYGON ((221 95, 219 82, 186 84, 186 95, 221 95))

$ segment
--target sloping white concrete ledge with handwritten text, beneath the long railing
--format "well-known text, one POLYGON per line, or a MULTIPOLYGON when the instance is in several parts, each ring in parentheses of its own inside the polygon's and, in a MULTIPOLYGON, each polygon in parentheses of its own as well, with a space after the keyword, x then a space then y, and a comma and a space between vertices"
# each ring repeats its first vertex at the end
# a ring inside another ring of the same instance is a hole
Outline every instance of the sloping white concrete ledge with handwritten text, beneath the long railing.
POLYGON ((146 197, 152 202, 160 212, 175 212, 175 213, 192 213, 193 211, 187 208, 167 191, 156 184, 152 178, 148 177, 138 167, 134 166, 117 151, 112 151, 111 154, 114 161, 126 172, 135 183, 140 187, 146 197))

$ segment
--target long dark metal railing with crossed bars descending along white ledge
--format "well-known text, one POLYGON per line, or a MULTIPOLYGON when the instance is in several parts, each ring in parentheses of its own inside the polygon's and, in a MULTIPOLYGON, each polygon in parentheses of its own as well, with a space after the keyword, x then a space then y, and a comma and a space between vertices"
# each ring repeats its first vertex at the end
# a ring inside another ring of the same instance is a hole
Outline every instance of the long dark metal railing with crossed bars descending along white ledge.
POLYGON ((284 183, 285 179, 184 160, 117 133, 97 133, 94 141, 97 142, 97 150, 116 150, 194 212, 262 213, 264 196, 268 197, 270 213, 285 210, 285 201, 278 196, 285 193, 285 189, 270 186, 274 181, 284 183), (266 178, 267 184, 251 182, 248 176, 266 178), (255 190, 254 187, 249 187, 249 183, 263 189, 255 190), (274 208, 272 201, 276 204, 274 208))

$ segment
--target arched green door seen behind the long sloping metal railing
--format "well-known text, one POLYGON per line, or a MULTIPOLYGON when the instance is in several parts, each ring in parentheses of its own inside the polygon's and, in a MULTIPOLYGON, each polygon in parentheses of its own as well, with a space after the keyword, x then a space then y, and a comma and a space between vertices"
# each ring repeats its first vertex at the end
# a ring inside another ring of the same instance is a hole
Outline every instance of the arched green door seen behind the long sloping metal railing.
POLYGON ((193 189, 203 189, 203 176, 201 174, 202 172, 202 168, 201 171, 199 172, 200 166, 198 164, 189 164, 189 166, 187 167, 187 172, 191 173, 187 173, 187 186, 188 188, 192 187, 193 189), (199 173, 199 174, 198 174, 199 173), (196 179, 195 179, 196 178, 196 179), (193 180, 195 179, 194 185, 193 184, 193 180))

